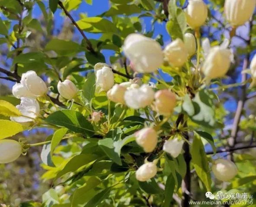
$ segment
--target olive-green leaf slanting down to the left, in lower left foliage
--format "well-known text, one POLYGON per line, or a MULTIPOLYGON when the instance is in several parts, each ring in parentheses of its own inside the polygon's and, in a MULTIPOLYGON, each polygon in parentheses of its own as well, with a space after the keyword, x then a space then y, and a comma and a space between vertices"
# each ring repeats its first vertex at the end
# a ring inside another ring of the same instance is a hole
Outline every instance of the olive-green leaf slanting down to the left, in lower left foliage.
POLYGON ((88 163, 91 163, 95 161, 98 158, 95 154, 79 154, 75 157, 72 157, 68 163, 64 166, 64 168, 58 172, 55 179, 58 179, 59 177, 65 175, 69 172, 75 172, 77 169, 79 169, 82 166, 85 166, 88 163))

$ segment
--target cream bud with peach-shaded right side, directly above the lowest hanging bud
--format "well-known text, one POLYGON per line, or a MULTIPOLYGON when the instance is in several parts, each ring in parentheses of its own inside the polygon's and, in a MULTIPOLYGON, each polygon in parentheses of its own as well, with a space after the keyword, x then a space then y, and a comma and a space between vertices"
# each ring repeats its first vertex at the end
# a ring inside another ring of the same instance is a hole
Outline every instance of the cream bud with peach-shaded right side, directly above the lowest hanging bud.
POLYGON ((153 128, 144 128, 135 132, 136 142, 145 152, 153 152, 157 146, 157 132, 153 128))

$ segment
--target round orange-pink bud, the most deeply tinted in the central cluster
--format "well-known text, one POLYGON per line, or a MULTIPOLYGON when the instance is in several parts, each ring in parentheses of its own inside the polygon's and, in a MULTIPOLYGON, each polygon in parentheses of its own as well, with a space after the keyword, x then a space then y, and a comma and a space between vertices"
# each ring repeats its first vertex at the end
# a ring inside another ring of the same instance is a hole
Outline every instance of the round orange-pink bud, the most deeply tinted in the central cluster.
POLYGON ((154 110, 163 115, 170 116, 176 107, 176 95, 167 90, 160 90, 155 93, 154 110))

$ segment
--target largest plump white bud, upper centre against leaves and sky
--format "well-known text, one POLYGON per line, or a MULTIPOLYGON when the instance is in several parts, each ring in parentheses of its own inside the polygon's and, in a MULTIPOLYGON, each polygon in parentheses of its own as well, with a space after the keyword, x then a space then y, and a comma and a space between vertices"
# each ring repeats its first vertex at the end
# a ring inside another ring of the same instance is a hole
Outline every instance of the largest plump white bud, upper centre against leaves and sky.
POLYGON ((129 34, 125 38, 123 50, 137 72, 155 72, 163 63, 160 44, 141 34, 129 34))

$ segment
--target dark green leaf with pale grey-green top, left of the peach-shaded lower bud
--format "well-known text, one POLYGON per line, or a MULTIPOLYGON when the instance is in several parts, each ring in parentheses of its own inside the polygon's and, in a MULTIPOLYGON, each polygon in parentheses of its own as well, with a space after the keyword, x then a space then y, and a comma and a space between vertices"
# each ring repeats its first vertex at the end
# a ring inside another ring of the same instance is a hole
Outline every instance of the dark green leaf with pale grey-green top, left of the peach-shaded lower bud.
POLYGON ((101 139, 98 141, 98 144, 110 159, 112 159, 118 165, 122 165, 120 154, 115 151, 112 138, 101 139))

